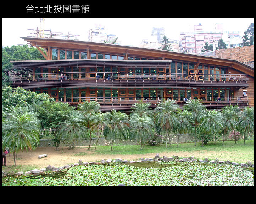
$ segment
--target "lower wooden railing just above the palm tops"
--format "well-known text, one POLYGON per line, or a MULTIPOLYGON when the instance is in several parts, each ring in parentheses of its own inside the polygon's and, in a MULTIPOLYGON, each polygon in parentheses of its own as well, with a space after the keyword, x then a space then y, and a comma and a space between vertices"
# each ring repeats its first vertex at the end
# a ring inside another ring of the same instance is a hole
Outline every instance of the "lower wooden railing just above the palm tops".
POLYGON ((97 101, 99 104, 134 104, 143 101, 145 103, 156 104, 162 100, 176 100, 176 103, 186 103, 187 100, 199 99, 202 103, 248 103, 248 97, 68 97, 54 98, 56 102, 78 104, 83 101, 97 101))

